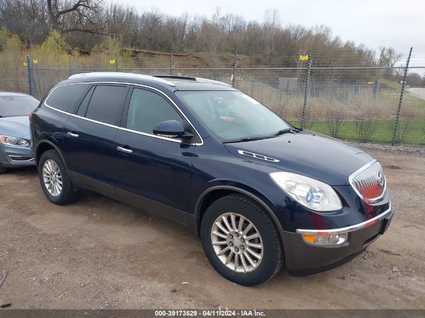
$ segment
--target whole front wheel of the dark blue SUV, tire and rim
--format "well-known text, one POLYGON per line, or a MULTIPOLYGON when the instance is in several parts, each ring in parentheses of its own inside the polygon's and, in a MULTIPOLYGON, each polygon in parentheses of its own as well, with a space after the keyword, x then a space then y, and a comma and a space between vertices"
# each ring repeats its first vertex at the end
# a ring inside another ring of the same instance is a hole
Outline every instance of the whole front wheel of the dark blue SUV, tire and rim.
POLYGON ((240 285, 262 284, 282 264, 282 245, 272 220, 262 207, 241 195, 227 195, 208 207, 201 240, 217 272, 240 285))

